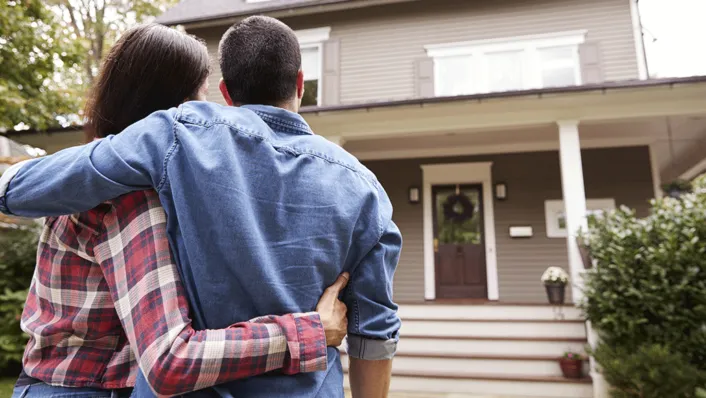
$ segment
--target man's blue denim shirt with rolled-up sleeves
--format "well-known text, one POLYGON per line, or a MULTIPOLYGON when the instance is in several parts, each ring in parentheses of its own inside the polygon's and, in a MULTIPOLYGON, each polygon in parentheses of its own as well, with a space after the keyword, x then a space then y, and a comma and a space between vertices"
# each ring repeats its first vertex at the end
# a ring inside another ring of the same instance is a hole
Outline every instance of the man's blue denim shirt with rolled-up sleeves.
MULTIPOLYGON (((312 311, 351 279, 349 355, 391 358, 400 319, 392 278, 402 237, 375 176, 304 119, 268 106, 188 102, 121 134, 27 161, 0 179, 0 210, 43 217, 154 188, 199 328, 312 311)), ((326 372, 231 382, 237 397, 343 397, 338 350, 326 372)))

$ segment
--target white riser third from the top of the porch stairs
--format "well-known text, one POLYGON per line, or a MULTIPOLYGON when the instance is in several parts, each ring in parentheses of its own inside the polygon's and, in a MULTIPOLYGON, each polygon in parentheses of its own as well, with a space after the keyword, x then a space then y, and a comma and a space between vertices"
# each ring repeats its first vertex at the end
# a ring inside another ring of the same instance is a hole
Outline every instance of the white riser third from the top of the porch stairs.
POLYGON ((400 353, 556 356, 566 351, 584 352, 586 343, 560 341, 502 340, 434 340, 403 337, 397 347, 400 353))

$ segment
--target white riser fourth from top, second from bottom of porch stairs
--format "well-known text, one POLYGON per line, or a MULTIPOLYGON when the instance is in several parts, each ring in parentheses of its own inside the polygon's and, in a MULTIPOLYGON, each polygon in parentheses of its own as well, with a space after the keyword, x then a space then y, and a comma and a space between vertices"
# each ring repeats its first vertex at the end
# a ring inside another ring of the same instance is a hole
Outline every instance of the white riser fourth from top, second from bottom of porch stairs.
MULTIPOLYGON (((343 360, 343 368, 348 361, 343 360)), ((415 358, 398 356, 392 362, 393 372, 424 373, 429 369, 441 373, 487 376, 561 376, 559 361, 527 361, 498 359, 415 358)))

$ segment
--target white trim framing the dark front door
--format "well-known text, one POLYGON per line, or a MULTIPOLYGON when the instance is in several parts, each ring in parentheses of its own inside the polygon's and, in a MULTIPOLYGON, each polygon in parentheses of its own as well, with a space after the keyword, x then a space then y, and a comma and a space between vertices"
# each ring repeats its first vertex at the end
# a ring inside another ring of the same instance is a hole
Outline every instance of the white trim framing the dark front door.
POLYGON ((424 298, 427 300, 434 300, 436 298, 432 186, 440 184, 474 183, 481 183, 483 186, 483 232, 485 234, 485 266, 488 284, 488 300, 499 299, 491 166, 491 162, 430 164, 421 166, 424 191, 424 298))

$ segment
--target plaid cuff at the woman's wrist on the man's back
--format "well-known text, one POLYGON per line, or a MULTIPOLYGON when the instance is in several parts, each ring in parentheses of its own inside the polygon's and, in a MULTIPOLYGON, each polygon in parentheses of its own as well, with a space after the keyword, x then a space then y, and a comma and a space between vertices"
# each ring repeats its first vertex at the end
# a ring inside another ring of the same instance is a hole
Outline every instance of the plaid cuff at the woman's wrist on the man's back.
MULTIPOLYGON (((321 318, 316 312, 292 314, 296 327, 296 340, 290 339, 287 330, 287 342, 290 360, 285 361, 283 373, 297 374, 326 370, 328 353, 326 352, 326 333, 321 318)), ((293 337, 293 336, 292 336, 293 337)))

